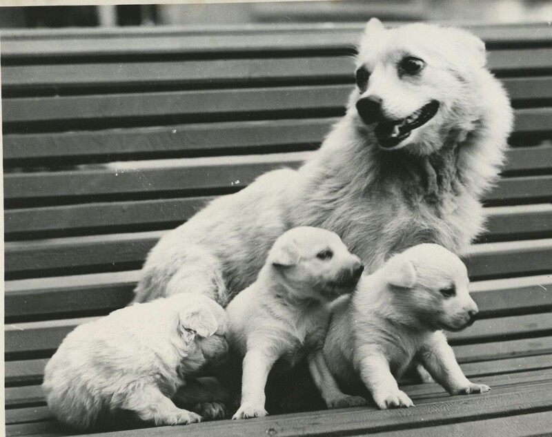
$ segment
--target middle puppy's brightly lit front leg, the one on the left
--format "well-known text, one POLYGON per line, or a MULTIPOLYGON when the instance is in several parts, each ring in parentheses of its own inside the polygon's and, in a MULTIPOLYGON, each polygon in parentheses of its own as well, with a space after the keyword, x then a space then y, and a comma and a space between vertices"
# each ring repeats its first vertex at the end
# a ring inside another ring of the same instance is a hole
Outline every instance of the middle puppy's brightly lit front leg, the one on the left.
POLYGON ((264 409, 264 387, 268 373, 277 358, 273 351, 264 348, 247 351, 243 365, 242 404, 234 414, 233 420, 263 417, 268 414, 264 409))

